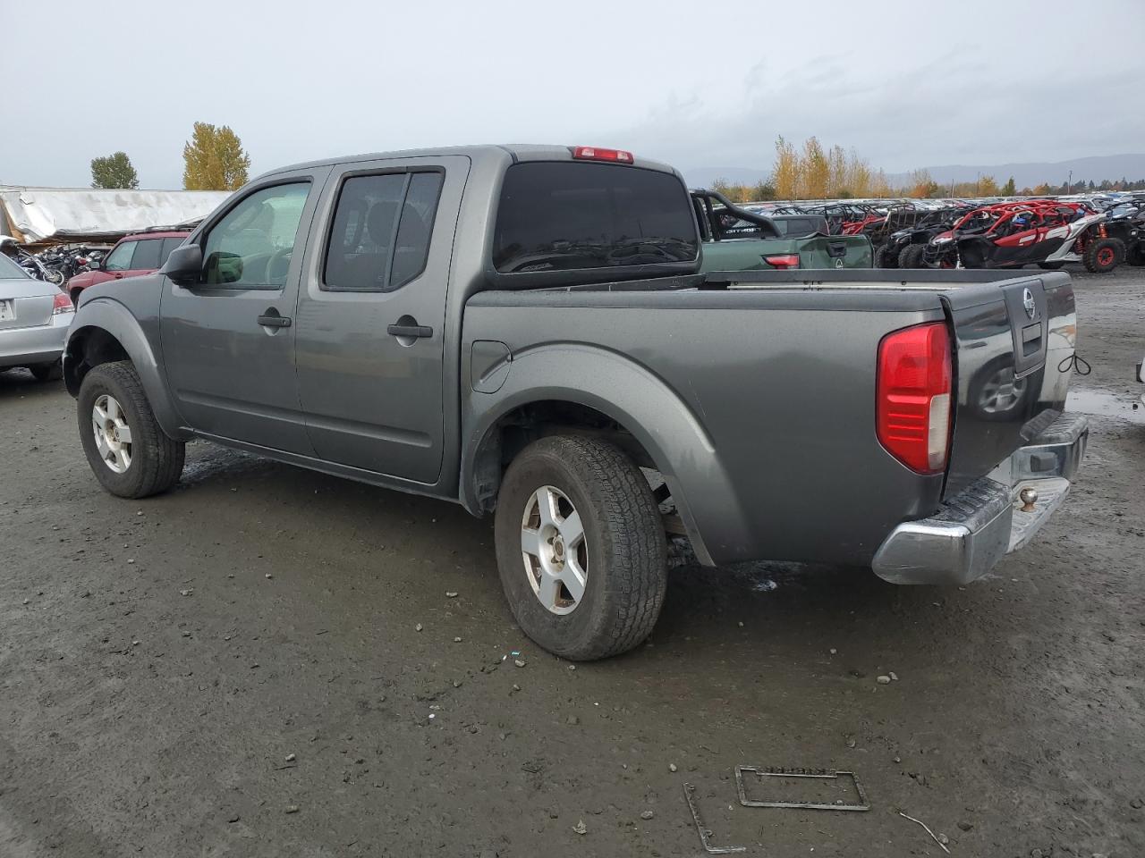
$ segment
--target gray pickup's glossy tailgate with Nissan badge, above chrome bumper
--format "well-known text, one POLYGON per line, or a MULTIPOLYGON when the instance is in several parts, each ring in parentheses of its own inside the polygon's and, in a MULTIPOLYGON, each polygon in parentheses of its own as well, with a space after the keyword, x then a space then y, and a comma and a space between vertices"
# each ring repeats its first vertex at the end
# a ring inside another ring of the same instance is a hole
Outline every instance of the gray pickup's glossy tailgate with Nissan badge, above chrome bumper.
POLYGON ((958 286, 943 291, 942 301, 954 325, 957 389, 950 496, 1065 408, 1076 315, 1061 272, 958 286))

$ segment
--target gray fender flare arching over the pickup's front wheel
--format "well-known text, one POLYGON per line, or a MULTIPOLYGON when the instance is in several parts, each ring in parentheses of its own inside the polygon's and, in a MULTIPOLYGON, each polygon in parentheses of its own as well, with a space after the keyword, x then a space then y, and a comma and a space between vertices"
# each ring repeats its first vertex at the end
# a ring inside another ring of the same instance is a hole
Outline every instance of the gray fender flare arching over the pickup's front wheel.
POLYGON ((68 392, 79 396, 79 386, 86 373, 82 368, 86 357, 84 341, 93 331, 102 331, 114 337, 127 352, 163 431, 175 440, 189 440, 191 434, 182 426, 182 419, 167 391, 163 370, 147 334, 131 311, 112 299, 100 296, 85 301, 76 313, 76 319, 68 332, 63 356, 68 392))

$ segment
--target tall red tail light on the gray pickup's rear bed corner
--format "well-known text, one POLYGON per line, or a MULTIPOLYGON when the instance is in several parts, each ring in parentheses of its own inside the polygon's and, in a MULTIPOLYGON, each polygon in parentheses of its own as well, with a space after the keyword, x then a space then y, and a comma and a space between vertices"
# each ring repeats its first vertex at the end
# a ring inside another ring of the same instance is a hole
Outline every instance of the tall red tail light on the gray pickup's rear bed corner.
POLYGON ((946 469, 950 442, 950 336, 941 321, 878 344, 878 440, 918 474, 946 469))

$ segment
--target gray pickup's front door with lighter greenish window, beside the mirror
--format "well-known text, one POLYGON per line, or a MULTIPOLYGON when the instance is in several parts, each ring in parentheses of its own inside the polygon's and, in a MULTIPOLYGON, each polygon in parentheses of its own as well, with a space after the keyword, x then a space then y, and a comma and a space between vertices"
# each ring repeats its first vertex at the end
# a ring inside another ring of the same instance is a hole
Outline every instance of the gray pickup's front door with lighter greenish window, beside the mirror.
POLYGON ((293 317, 302 247, 330 169, 248 189, 196 233, 199 283, 164 283, 167 382, 190 428, 313 454, 294 375, 293 317))

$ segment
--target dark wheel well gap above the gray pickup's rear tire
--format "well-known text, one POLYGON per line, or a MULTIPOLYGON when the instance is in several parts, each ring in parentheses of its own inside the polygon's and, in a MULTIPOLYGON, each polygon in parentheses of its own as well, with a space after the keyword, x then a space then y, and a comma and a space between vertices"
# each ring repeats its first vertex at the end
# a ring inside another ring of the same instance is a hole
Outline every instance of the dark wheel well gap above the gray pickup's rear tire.
POLYGON ((582 435, 615 444, 641 468, 658 470, 656 462, 624 426, 587 405, 543 400, 503 414, 477 445, 473 459, 473 484, 477 511, 497 507, 497 492, 510 462, 524 447, 548 435, 582 435))

